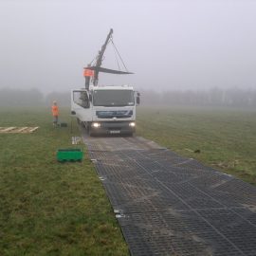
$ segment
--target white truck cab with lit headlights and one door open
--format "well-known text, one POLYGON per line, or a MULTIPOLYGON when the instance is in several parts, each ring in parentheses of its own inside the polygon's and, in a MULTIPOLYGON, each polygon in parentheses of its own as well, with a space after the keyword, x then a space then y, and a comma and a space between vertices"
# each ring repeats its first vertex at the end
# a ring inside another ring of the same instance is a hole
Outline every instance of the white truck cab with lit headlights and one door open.
POLYGON ((86 128, 90 136, 132 136, 136 131, 139 94, 131 86, 92 85, 89 90, 73 90, 71 100, 71 114, 86 128))

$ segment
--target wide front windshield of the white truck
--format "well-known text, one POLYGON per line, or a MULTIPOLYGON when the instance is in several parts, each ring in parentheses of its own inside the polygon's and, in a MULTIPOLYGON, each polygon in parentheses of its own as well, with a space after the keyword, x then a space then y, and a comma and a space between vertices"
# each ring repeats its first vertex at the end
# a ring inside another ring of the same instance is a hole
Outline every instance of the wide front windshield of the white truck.
POLYGON ((132 90, 95 90, 93 94, 95 106, 132 106, 135 104, 132 90))

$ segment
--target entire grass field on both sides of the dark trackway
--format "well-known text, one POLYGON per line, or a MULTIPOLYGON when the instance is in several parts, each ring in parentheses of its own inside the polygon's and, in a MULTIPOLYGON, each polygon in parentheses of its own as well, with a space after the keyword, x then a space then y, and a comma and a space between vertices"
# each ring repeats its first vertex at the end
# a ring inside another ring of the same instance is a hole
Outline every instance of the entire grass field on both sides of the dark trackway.
MULTIPOLYGON (((139 107, 137 118, 137 135, 256 184, 256 112, 139 107)), ((0 255, 128 255, 84 146, 82 163, 56 161, 76 124, 71 133, 52 127, 49 109, 2 109, 0 126, 40 126, 0 134, 0 255)))

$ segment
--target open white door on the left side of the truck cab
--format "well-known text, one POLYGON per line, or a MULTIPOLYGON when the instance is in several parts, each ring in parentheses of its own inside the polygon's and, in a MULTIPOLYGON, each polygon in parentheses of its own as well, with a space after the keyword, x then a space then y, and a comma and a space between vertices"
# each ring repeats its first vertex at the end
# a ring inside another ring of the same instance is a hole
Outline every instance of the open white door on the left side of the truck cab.
POLYGON ((87 91, 74 90, 71 94, 71 113, 81 121, 90 121, 91 102, 87 91))

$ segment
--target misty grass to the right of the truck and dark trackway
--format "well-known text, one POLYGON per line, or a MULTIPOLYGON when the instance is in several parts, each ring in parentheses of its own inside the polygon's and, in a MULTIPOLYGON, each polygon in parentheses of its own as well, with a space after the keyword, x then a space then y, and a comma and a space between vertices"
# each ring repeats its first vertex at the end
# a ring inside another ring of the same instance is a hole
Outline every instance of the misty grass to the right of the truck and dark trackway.
POLYGON ((140 108, 138 117, 137 135, 256 185, 256 111, 140 108))

